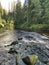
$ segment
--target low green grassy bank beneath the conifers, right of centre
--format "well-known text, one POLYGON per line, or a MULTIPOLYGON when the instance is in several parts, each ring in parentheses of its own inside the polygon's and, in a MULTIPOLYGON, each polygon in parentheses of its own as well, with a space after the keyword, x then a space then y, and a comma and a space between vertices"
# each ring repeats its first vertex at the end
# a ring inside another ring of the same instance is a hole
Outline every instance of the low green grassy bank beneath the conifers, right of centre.
POLYGON ((21 24, 16 26, 16 29, 34 32, 49 33, 49 24, 21 24))

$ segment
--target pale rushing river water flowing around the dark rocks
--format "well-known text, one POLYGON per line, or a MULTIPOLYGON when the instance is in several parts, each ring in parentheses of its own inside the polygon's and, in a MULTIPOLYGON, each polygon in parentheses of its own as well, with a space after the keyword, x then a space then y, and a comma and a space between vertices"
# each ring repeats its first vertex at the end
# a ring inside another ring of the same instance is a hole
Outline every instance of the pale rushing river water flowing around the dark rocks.
MULTIPOLYGON (((21 31, 21 30, 13 30, 9 31, 7 30, 6 32, 0 34, 0 65, 16 65, 15 62, 15 56, 9 54, 8 51, 12 46, 10 45, 13 41, 18 41, 19 45, 13 46, 14 48, 18 49, 21 51, 21 57, 25 57, 29 54, 33 54, 33 48, 29 47, 27 51, 24 51, 24 48, 26 48, 26 44, 29 45, 35 45, 40 48, 47 48, 45 49, 48 54, 48 61, 49 61, 49 36, 47 35, 41 35, 36 32, 27 32, 27 31, 21 31), (18 38, 22 38, 22 40, 18 40, 18 38), (20 47, 20 45, 22 45, 20 47), (23 48, 23 49, 22 49, 23 48), (31 51, 32 50, 32 51, 31 51), (23 52, 24 51, 24 52, 23 52), (29 51, 29 52, 28 52, 29 51)), ((36 49, 35 49, 36 50, 36 49)), ((40 50, 41 51, 41 50, 40 50)), ((37 52, 37 50, 36 50, 37 52)), ((34 53, 36 53, 34 51, 34 53)), ((41 52, 42 53, 42 52, 41 52)), ((37 53, 38 54, 38 53, 37 53)), ((39 54, 38 54, 39 55, 39 54)), ((40 55, 39 55, 40 56, 40 55)), ((25 65, 22 60, 19 61, 19 65, 25 65)))

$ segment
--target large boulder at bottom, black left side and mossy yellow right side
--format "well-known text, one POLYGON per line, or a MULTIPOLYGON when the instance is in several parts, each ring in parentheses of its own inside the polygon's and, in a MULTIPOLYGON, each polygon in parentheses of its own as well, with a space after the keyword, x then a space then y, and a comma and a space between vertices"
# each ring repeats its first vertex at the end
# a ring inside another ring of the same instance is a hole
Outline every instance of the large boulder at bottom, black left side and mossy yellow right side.
POLYGON ((22 60, 26 65, 35 65, 38 60, 38 56, 37 55, 29 55, 29 56, 23 58, 22 60))

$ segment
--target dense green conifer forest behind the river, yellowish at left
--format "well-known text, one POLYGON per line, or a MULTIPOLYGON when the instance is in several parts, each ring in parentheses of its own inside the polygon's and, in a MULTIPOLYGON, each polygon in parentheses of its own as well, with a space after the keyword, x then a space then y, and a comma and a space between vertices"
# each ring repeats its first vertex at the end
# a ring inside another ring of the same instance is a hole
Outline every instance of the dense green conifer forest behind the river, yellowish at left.
POLYGON ((0 31, 13 29, 49 31, 49 0, 18 0, 9 12, 0 3, 0 31))

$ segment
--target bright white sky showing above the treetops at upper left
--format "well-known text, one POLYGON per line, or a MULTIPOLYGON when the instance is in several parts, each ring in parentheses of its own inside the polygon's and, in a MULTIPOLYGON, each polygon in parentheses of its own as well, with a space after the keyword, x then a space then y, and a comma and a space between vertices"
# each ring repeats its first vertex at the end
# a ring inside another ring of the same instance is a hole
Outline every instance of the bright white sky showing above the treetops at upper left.
MULTIPOLYGON (((17 1, 17 0, 0 0, 2 7, 4 9, 6 9, 7 11, 11 8, 11 6, 9 5, 9 3, 12 3, 13 1, 17 1)), ((24 3, 24 0, 21 0, 22 4, 24 3)))

